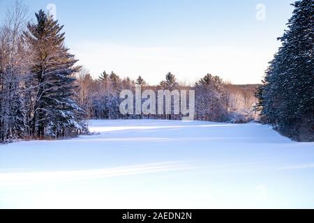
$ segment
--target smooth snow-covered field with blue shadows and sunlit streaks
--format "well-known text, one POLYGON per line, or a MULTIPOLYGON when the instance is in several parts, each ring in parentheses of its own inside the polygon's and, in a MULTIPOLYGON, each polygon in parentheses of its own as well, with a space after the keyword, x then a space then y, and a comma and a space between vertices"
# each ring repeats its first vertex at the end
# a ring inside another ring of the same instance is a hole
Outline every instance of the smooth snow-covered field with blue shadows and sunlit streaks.
POLYGON ((271 128, 91 121, 0 146, 0 208, 314 208, 314 144, 271 128))

